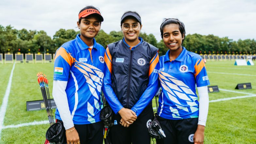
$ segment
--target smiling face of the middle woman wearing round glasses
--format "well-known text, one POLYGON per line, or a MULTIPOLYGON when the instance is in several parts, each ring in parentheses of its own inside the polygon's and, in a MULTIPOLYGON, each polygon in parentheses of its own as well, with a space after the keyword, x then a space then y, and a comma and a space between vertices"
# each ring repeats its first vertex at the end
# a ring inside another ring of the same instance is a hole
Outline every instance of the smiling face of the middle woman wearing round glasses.
POLYGON ((124 39, 130 42, 138 40, 141 27, 142 25, 140 25, 135 18, 131 17, 131 18, 125 19, 121 26, 124 39), (129 29, 125 30, 128 27, 129 29))

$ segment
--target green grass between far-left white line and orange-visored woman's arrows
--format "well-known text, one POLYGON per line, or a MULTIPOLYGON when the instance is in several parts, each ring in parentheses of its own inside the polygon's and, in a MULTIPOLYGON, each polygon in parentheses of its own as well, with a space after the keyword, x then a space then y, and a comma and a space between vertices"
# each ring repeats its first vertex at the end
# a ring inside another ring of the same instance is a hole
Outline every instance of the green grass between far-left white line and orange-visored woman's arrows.
POLYGON ((53 87, 53 64, 16 64, 12 77, 4 125, 20 124, 30 121, 47 120, 46 111, 26 111, 26 101, 42 100, 37 73, 43 72, 49 80, 50 95, 53 87), (13 115, 17 119, 13 119, 13 115))

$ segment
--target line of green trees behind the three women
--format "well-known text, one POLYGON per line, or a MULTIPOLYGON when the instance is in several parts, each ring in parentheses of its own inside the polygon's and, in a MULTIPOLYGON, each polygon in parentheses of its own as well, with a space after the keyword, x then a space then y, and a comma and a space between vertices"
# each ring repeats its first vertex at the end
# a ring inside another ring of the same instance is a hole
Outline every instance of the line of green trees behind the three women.
MULTIPOLYGON (((45 31, 17 30, 11 25, 0 25, 0 53, 55 53, 63 43, 75 39, 80 31, 73 29, 59 29, 53 38, 45 31)), ((165 55, 168 48, 163 40, 157 41, 153 34, 140 33, 143 40, 159 48, 159 55, 165 55)), ((111 31, 109 34, 101 30, 96 41, 106 47, 107 44, 121 40, 121 31, 111 31)), ((254 39, 232 40, 228 37, 219 38, 214 35, 188 34, 183 46, 197 54, 255 54, 256 41, 254 39)))

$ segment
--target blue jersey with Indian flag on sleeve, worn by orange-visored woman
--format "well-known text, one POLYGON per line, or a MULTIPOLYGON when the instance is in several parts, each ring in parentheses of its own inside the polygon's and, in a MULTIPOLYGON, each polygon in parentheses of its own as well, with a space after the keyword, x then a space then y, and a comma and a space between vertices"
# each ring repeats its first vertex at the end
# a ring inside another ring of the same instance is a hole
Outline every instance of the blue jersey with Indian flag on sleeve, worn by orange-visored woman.
MULTIPOLYGON (((65 91, 74 124, 100 121, 104 53, 104 47, 95 39, 93 48, 89 48, 81 40, 80 34, 56 51, 54 80, 68 81, 65 91)), ((61 120, 58 109, 55 114, 56 119, 61 120)))

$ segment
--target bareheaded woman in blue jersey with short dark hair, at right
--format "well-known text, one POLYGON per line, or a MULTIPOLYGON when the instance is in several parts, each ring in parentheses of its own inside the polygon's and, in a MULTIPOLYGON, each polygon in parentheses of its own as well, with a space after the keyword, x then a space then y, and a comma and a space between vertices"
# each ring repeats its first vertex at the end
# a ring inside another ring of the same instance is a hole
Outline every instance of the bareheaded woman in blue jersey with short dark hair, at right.
POLYGON ((159 58, 158 120, 166 138, 157 144, 203 144, 210 84, 202 58, 182 47, 185 27, 178 19, 165 19, 161 37, 169 49, 159 58), (198 96, 196 94, 196 86, 198 96))

